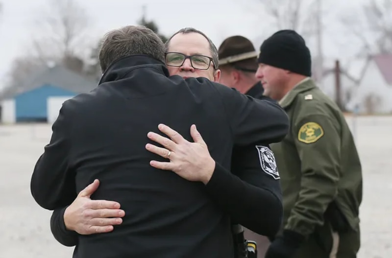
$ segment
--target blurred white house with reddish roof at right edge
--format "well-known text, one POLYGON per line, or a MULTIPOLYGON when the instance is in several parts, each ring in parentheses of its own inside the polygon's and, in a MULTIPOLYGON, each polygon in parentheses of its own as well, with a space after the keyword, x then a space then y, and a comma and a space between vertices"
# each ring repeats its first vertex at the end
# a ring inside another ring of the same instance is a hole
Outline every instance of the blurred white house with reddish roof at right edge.
POLYGON ((356 106, 359 113, 392 113, 392 54, 368 60, 350 106, 356 106))

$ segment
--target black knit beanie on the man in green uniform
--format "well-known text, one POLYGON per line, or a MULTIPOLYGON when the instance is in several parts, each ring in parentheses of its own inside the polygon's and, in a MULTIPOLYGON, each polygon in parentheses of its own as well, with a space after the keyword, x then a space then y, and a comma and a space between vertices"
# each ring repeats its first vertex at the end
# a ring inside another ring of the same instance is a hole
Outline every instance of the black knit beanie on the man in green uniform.
POLYGON ((294 30, 279 30, 266 39, 260 47, 258 62, 309 77, 312 75, 309 48, 294 30))

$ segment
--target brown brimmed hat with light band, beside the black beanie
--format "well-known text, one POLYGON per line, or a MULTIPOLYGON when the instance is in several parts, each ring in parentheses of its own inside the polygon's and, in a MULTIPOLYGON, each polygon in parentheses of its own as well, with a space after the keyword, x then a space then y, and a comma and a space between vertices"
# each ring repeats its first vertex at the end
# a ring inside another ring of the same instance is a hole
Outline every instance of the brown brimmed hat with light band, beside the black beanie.
POLYGON ((220 66, 253 59, 254 66, 252 65, 252 68, 256 70, 258 67, 258 53, 252 42, 243 36, 231 36, 225 39, 219 47, 218 55, 220 66))

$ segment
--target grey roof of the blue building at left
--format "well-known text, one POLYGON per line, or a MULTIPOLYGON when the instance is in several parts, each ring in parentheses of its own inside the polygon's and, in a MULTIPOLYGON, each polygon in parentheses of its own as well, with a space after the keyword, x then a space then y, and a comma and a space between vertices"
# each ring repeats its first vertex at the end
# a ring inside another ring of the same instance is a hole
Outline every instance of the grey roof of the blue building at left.
POLYGON ((97 87, 97 84, 98 82, 85 78, 76 72, 58 65, 36 73, 20 87, 5 89, 1 93, 0 99, 12 98, 18 94, 34 90, 43 85, 52 85, 74 92, 75 94, 87 93, 97 87))

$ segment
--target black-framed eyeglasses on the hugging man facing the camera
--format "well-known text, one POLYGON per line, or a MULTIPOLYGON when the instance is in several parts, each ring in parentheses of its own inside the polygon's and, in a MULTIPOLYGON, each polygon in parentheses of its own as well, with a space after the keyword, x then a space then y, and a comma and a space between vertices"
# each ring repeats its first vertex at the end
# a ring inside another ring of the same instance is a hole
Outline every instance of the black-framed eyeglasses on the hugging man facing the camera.
POLYGON ((184 55, 177 52, 166 53, 166 65, 180 67, 184 64, 185 60, 191 60, 191 66, 197 70, 208 70, 211 62, 215 67, 214 61, 211 57, 205 55, 184 55))

